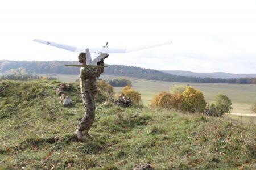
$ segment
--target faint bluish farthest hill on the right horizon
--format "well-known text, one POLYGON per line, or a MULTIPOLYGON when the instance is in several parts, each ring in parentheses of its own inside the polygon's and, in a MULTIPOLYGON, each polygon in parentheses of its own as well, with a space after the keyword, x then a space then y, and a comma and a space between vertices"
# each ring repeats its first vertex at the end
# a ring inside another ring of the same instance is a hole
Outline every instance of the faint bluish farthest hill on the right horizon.
POLYGON ((170 73, 174 75, 181 76, 193 76, 193 77, 201 77, 201 78, 221 78, 221 79, 230 79, 230 78, 252 78, 256 77, 256 74, 233 74, 233 73, 225 73, 225 72, 214 72, 214 73, 196 73, 191 71, 181 71, 181 70, 159 70, 164 73, 170 73))

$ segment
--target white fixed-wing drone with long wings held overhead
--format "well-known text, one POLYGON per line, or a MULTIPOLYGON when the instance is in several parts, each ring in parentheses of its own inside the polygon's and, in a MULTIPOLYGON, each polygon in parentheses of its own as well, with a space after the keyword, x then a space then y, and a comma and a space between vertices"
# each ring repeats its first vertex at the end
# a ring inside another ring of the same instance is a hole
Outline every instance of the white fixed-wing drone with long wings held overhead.
POLYGON ((172 42, 167 42, 167 43, 163 43, 163 44, 156 44, 156 45, 143 46, 143 47, 139 47, 139 48, 130 48, 129 49, 129 48, 109 48, 108 42, 106 43, 105 46, 102 46, 100 48, 77 48, 75 46, 69 46, 69 45, 64 45, 64 44, 59 44, 59 43, 44 41, 44 40, 39 40, 39 39, 35 39, 34 41, 40 42, 40 43, 46 44, 46 45, 55 46, 57 48, 69 50, 72 52, 86 53, 86 65, 65 65, 65 66, 75 66, 75 67, 102 67, 102 66, 97 66, 97 62, 108 57, 109 53, 129 53, 129 52, 134 52, 137 50, 154 48, 156 46, 162 46, 162 45, 167 45, 167 44, 172 43, 172 42), (95 54, 96 57, 94 57, 92 59, 91 54, 93 54, 93 53, 95 54))

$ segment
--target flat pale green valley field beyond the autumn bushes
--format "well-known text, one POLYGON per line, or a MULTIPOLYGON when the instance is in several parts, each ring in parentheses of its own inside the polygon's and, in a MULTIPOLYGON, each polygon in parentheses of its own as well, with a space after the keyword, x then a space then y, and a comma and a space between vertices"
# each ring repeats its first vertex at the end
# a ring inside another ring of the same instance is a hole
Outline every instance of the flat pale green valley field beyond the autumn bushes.
MULTIPOLYGON (((79 75, 61 75, 57 78, 65 82, 74 82, 79 75)), ((113 79, 118 76, 105 75, 101 78, 113 79)), ((170 87, 174 84, 184 84, 200 89, 204 92, 207 102, 212 102, 217 94, 225 94, 232 99, 232 113, 252 113, 251 105, 256 102, 256 85, 254 84, 217 84, 217 83, 179 83, 179 82, 160 82, 152 80, 139 80, 137 78, 129 78, 132 80, 133 88, 141 93, 144 104, 149 105, 152 98, 159 91, 170 91, 170 87)), ((114 87, 115 92, 121 91, 121 87, 114 87)))

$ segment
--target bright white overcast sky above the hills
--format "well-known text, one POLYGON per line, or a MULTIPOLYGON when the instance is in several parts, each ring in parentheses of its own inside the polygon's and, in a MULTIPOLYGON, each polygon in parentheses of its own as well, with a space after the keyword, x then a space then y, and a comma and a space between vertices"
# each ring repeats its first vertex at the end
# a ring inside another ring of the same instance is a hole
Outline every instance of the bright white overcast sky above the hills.
POLYGON ((1 1, 0 59, 76 60, 78 47, 171 45, 110 54, 106 63, 256 74, 256 1, 1 1))

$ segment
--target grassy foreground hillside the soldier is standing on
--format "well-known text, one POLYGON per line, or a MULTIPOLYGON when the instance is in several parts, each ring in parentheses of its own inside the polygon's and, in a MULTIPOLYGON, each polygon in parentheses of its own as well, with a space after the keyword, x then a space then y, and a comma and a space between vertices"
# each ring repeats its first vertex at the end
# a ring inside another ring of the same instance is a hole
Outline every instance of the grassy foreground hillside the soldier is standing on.
POLYGON ((102 104, 94 138, 79 142, 73 135, 84 114, 79 86, 72 84, 73 104, 63 107, 59 83, 0 82, 0 169, 255 168, 255 125, 228 117, 102 104))

